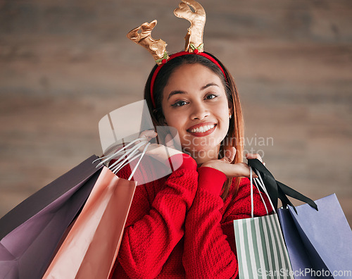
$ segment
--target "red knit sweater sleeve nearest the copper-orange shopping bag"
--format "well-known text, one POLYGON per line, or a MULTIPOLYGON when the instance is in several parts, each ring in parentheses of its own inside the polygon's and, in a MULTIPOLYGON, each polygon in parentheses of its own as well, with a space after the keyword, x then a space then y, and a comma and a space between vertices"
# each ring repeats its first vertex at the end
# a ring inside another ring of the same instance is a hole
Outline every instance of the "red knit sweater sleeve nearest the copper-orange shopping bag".
MULTIPOLYGON (((177 154, 170 159, 183 159, 180 168, 156 193, 149 213, 125 228, 118 262, 130 278, 155 278, 184 235, 184 219, 197 188, 196 161, 186 154, 177 154)), ((142 202, 138 206, 143 206, 142 202)), ((144 210, 145 207, 141 209, 144 210)))

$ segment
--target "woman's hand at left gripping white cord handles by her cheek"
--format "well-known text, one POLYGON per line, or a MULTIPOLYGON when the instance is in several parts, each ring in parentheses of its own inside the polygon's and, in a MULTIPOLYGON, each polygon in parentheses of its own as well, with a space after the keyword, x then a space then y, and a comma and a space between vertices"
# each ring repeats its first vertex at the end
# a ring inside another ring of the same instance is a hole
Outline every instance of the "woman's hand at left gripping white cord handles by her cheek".
MULTIPOLYGON (((145 130, 143 131, 139 137, 145 138, 146 140, 150 141, 158 134, 153 130, 145 130)), ((182 154, 182 151, 175 149, 172 136, 170 134, 166 135, 165 137, 165 144, 151 144, 149 145, 148 149, 146 150, 146 155, 152 156, 153 158, 161 161, 162 163, 166 163, 168 159, 175 154, 182 154)), ((143 151, 144 147, 140 147, 139 151, 143 151)))

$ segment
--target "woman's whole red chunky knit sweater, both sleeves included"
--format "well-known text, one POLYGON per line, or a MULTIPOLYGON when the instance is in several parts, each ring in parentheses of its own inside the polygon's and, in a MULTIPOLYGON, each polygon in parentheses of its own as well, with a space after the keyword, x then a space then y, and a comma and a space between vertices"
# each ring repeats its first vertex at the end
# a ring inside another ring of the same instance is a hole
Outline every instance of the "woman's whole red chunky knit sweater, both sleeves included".
MULTIPOLYGON (((214 168, 197 169, 186 154, 172 156, 180 168, 166 178, 138 185, 112 278, 235 278, 238 274, 233 220, 251 217, 250 183, 234 183, 223 202, 226 180, 214 168)), ((153 175, 144 163, 138 171, 153 175)), ((118 173, 128 178, 130 168, 118 173)), ((254 213, 266 214, 258 190, 254 213)), ((265 199, 268 204, 268 200, 265 199)), ((268 207, 270 208, 270 206, 268 207)))

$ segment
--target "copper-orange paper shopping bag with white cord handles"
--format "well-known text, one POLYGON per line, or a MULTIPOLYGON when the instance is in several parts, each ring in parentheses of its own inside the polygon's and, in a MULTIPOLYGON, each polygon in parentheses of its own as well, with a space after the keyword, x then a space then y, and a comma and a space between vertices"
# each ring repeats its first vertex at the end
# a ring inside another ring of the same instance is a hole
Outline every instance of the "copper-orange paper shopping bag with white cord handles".
MULTIPOLYGON (((134 156, 133 152, 128 155, 130 158, 127 161, 139 157, 136 168, 149 143, 144 142, 144 145, 140 156, 134 156)), ((134 146, 133 149, 137 150, 139 146, 134 146)), ((108 278, 118 256, 127 214, 137 185, 136 181, 131 180, 134 171, 125 180, 103 167, 87 203, 58 249, 44 279, 108 278)))

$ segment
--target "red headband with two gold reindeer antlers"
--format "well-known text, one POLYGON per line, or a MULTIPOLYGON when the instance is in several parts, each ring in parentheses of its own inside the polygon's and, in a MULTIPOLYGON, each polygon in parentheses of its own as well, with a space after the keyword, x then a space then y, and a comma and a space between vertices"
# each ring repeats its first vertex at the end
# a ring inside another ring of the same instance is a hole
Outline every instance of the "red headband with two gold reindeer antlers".
POLYGON ((180 51, 176 54, 168 56, 168 52, 166 51, 166 46, 168 44, 166 44, 162 39, 156 40, 151 37, 151 31, 154 27, 156 27, 156 20, 153 20, 151 23, 143 23, 141 26, 134 28, 127 34, 127 37, 129 39, 132 39, 133 42, 135 42, 136 44, 140 44, 141 46, 146 48, 158 64, 158 68, 156 68, 151 78, 150 88, 151 101, 153 103, 154 108, 156 107, 156 104, 153 97, 153 87, 154 82, 156 80, 156 76, 158 75, 163 65, 167 61, 170 61, 172 58, 187 54, 199 54, 215 63, 220 68, 226 78, 225 71, 222 69, 218 61, 216 61, 215 58, 213 58, 212 56, 203 53, 203 30, 204 25, 206 24, 206 11, 204 11, 204 8, 201 6, 201 4, 194 0, 182 0, 182 2, 179 4, 179 7, 175 9, 174 14, 178 18, 184 18, 189 20, 189 22, 191 23, 191 27, 188 28, 187 35, 186 37, 184 37, 184 39, 186 40, 184 51, 180 51), (191 8, 189 8, 189 6, 194 8, 194 12, 191 11, 191 8))

